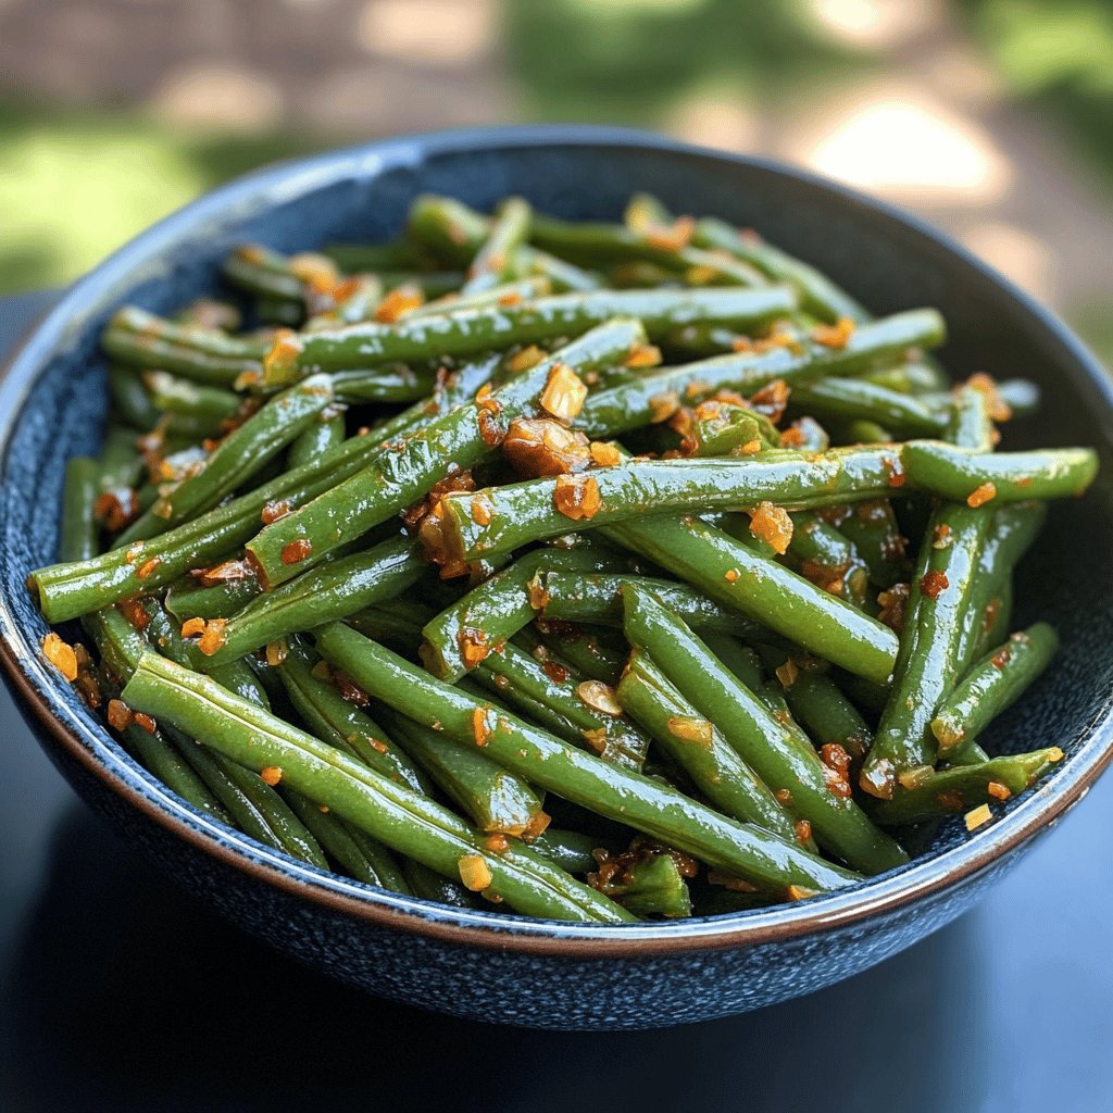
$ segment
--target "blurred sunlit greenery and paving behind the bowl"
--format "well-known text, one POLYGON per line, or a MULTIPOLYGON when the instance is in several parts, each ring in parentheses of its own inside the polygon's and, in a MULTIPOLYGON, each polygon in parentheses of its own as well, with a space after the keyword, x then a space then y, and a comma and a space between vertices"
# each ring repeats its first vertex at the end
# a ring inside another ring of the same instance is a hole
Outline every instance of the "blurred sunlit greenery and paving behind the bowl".
POLYGON ((522 120, 910 207, 1113 362, 1109 0, 0 0, 0 293, 276 158, 522 120))

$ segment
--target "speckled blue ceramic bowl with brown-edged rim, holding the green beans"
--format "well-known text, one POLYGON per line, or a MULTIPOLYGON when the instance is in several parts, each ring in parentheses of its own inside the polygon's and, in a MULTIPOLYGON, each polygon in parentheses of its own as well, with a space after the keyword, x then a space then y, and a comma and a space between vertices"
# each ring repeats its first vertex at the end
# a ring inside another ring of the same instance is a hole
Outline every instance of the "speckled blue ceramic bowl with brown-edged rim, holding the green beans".
POLYGON ((183 885, 282 949, 374 993, 551 1027, 644 1027, 727 1016, 863 971, 946 924, 1077 802, 1113 756, 1113 391, 1051 314, 930 228, 766 161, 656 136, 530 127, 421 136, 279 166, 225 186, 82 279, 16 355, 0 403, 0 657, 28 722, 75 789, 183 885), (230 247, 297 249, 395 234, 415 194, 481 208, 522 194, 565 217, 614 218, 650 189, 681 211, 760 229, 877 313, 943 309, 957 375, 1024 375, 1045 405, 1011 443, 1099 446, 1101 479, 1053 508, 1023 570, 1018 621, 1053 619, 1052 674, 992 746, 1067 758, 968 836, 944 826, 899 870, 805 904, 682 923, 587 926, 460 912, 294 861, 229 830, 139 768, 45 666, 24 588, 53 559, 62 465, 95 452, 106 410, 97 334, 125 302, 166 312, 210 292, 230 247))

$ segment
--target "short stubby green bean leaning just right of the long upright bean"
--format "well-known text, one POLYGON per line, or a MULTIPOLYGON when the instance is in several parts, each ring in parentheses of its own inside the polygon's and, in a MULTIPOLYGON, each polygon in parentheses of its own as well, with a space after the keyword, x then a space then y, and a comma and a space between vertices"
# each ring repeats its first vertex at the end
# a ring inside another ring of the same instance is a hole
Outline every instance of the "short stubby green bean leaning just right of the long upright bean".
POLYGON ((939 755, 976 738, 1040 677, 1057 648, 1055 631, 1036 622, 976 661, 932 720, 939 755))

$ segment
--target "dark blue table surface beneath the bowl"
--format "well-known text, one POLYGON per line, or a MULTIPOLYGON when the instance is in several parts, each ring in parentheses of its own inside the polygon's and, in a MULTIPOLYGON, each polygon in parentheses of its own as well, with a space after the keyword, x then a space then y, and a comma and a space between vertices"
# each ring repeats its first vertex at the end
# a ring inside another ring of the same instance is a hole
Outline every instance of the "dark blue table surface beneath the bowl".
MULTIPOLYGON (((47 304, 0 302, 0 351, 47 304)), ((546 1033, 274 953, 126 847, 2 691, 0 726, 2 1110, 1113 1111, 1113 777, 981 906, 849 982, 691 1027, 546 1033)))

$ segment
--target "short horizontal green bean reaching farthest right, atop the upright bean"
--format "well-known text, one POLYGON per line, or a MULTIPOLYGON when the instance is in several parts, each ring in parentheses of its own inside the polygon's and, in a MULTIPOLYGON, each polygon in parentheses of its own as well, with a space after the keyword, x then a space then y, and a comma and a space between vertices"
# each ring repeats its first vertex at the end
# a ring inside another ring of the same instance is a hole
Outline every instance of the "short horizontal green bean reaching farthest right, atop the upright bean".
POLYGON ((972 452, 942 441, 909 441, 904 452, 909 482, 954 502, 987 501, 986 495, 998 502, 1065 499, 1084 493, 1097 474, 1093 449, 972 452))

